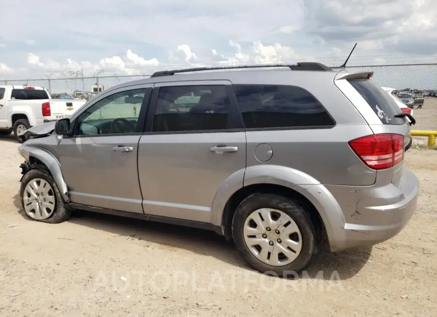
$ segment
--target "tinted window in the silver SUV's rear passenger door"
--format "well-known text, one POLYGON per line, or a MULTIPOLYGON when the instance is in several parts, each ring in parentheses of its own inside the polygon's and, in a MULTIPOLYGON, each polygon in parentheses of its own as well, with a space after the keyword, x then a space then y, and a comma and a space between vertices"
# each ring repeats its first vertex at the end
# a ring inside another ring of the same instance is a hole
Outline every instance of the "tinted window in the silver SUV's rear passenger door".
POLYGON ((223 85, 159 89, 154 132, 226 129, 229 98, 223 85))

